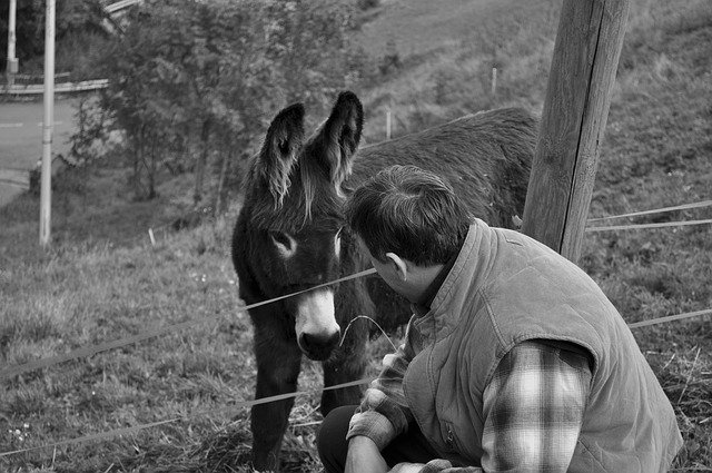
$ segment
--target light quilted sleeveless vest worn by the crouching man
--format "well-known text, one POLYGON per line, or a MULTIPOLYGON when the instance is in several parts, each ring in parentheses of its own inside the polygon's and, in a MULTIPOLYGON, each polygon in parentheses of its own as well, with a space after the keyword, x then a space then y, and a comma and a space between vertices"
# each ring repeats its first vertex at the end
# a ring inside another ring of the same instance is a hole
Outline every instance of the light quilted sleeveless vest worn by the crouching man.
POLYGON ((625 322, 575 264, 476 220, 431 311, 404 391, 421 430, 454 465, 479 465, 483 392, 527 339, 587 349, 592 383, 568 472, 665 472, 682 445, 672 406, 625 322))

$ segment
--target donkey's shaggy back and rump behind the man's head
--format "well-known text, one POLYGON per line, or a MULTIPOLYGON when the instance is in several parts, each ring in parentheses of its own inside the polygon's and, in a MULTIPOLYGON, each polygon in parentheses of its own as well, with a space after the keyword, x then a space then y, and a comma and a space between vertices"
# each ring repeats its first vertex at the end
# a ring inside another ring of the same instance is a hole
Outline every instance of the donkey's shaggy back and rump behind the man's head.
POLYGON ((524 211, 536 132, 537 120, 521 108, 462 117, 360 148, 348 187, 387 166, 415 165, 449 181, 475 217, 512 228, 524 211))

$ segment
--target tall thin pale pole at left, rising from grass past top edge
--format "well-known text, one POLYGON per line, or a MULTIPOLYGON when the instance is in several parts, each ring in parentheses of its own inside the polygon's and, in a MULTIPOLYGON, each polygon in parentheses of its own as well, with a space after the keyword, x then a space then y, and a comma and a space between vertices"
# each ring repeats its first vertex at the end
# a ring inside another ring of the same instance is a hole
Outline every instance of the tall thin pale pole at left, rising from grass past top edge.
POLYGON ((50 243, 52 210, 52 128, 55 121, 55 0, 44 14, 44 120, 42 121, 42 179, 40 187, 40 245, 50 243))

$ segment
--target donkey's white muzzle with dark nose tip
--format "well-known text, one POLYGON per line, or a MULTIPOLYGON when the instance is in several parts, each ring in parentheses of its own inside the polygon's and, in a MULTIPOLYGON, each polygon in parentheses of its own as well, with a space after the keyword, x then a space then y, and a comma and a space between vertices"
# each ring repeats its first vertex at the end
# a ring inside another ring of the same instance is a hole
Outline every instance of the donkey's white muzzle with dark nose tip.
POLYGON ((296 326, 299 348, 312 359, 326 359, 338 344, 334 290, 315 289, 297 300, 296 326))

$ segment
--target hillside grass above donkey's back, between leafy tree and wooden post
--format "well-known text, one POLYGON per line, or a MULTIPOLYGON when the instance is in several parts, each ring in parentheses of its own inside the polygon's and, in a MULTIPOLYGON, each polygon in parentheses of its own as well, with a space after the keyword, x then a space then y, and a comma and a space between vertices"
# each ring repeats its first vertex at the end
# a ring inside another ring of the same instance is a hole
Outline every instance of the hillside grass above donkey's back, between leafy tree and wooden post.
POLYGON ((541 111, 560 6, 556 0, 448 0, 439 8, 426 0, 382 2, 357 41, 376 63, 396 55, 402 66, 363 91, 366 140, 385 138, 387 108, 394 136, 494 107, 541 111))

